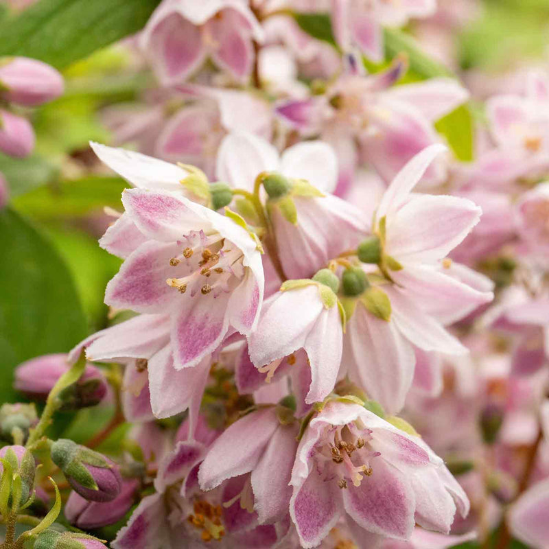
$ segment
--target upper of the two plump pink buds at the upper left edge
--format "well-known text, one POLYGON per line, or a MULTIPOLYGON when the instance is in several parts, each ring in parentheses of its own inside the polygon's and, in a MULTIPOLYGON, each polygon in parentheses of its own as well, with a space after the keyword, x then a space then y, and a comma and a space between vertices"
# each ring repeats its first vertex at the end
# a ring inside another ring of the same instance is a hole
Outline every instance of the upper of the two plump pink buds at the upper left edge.
POLYGON ((24 106, 36 106, 59 97, 65 88, 54 67, 36 59, 16 57, 0 63, 0 97, 24 106))

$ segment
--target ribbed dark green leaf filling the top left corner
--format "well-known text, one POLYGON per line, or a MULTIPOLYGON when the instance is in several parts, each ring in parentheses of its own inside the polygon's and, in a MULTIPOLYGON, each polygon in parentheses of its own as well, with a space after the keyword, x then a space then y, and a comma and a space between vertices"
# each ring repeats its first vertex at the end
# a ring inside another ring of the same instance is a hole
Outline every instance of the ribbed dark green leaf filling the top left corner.
POLYGON ((135 34, 159 0, 41 0, 0 22, 0 56, 27 56, 62 69, 135 34))

